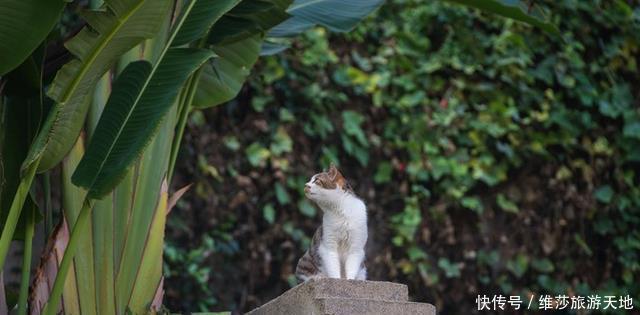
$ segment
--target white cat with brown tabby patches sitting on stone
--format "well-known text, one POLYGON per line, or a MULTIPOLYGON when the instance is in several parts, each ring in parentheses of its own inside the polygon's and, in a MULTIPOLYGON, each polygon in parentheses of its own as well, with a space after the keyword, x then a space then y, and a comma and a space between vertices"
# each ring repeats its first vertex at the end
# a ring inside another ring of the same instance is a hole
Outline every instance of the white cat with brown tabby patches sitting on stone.
POLYGON ((364 247, 367 243, 367 208, 340 171, 332 164, 304 185, 307 198, 323 212, 309 249, 298 260, 296 277, 366 280, 364 247))

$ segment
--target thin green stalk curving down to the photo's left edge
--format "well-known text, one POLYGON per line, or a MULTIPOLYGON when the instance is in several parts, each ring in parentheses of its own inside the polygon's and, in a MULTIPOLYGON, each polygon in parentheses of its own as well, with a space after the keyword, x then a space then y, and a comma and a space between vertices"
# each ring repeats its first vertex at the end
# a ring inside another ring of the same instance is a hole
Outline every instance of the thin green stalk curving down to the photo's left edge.
POLYGON ((16 231, 16 225, 20 219, 20 213, 22 212, 24 201, 29 195, 31 183, 36 175, 38 164, 40 164, 40 159, 32 163, 30 168, 27 169, 26 175, 20 180, 20 185, 18 185, 16 194, 13 196, 9 215, 7 216, 7 221, 5 221, 4 229, 2 229, 2 236, 0 236, 0 268, 4 267, 4 262, 7 258, 7 253, 9 252, 9 246, 13 239, 13 233, 16 231))

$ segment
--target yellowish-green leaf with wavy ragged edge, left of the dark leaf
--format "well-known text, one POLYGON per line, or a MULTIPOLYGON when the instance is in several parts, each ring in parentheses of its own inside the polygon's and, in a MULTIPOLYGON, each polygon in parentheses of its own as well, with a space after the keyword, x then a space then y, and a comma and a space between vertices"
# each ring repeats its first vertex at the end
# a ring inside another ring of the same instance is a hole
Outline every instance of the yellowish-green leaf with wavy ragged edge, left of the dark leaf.
POLYGON ((38 170, 45 171, 62 160, 80 133, 96 82, 120 55, 157 33, 172 3, 110 0, 99 11, 83 13, 89 26, 66 43, 76 59, 58 71, 47 92, 56 105, 23 169, 40 159, 38 170))

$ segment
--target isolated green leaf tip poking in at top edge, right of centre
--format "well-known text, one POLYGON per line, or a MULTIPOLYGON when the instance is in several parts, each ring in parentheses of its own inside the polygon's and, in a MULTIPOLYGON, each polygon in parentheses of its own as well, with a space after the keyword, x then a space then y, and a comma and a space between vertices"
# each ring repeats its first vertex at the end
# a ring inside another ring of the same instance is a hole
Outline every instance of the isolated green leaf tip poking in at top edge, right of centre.
POLYGON ((483 1, 446 0, 446 1, 464 4, 464 5, 474 7, 483 11, 502 15, 504 17, 508 17, 521 22, 525 22, 533 26, 539 27, 542 30, 553 35, 560 34, 560 31, 558 31, 558 28, 552 23, 543 20, 540 14, 537 14, 538 16, 534 16, 533 14, 528 13, 528 11, 537 13, 537 11, 532 10, 533 8, 536 8, 535 6, 530 7, 528 3, 524 3, 523 1, 520 1, 520 0, 483 0, 483 1))

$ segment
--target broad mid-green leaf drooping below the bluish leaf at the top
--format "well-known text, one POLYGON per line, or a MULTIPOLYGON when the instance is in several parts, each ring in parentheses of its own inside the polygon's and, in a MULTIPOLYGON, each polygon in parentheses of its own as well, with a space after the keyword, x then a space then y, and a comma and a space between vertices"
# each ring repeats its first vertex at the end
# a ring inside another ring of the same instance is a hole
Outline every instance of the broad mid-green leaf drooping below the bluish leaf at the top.
POLYGON ((193 106, 211 107, 236 97, 258 60, 261 42, 261 36, 254 35, 239 42, 213 46, 218 58, 202 71, 193 106))

